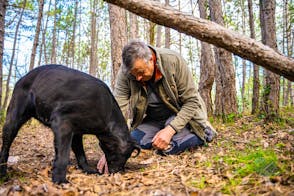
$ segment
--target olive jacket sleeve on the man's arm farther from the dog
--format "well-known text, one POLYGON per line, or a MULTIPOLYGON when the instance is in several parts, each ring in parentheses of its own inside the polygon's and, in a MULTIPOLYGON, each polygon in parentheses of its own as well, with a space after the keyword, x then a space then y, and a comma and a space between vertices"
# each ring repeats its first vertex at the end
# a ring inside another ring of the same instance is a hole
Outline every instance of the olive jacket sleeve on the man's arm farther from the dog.
POLYGON ((180 110, 176 117, 169 124, 178 132, 183 129, 193 118, 201 127, 205 127, 207 122, 207 112, 192 73, 185 60, 178 56, 178 62, 174 63, 174 81, 180 110))

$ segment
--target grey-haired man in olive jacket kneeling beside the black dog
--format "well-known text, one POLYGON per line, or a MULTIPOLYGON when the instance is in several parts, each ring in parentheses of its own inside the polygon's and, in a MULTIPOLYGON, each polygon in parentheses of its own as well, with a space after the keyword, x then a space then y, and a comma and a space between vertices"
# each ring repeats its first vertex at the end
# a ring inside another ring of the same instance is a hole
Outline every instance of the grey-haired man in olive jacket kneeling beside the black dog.
MULTIPOLYGON (((122 59, 114 95, 125 116, 130 108, 131 135, 143 149, 178 154, 212 141, 216 131, 178 53, 134 40, 123 48, 122 59)), ((104 165, 102 157, 97 168, 104 165)))

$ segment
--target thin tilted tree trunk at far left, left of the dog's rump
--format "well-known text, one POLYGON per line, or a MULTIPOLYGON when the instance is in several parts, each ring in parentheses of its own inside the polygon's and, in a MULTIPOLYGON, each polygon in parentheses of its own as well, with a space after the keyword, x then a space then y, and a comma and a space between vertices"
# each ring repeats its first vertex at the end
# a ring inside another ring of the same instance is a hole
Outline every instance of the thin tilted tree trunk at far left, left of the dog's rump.
POLYGON ((5 92, 5 98, 4 98, 4 103, 3 103, 3 109, 6 108, 7 103, 8 103, 8 98, 9 98, 9 83, 10 83, 10 77, 11 77, 11 72, 12 72, 12 66, 14 63, 14 56, 15 56, 15 50, 16 50, 16 42, 17 42, 17 37, 18 37, 18 31, 20 24, 22 22, 22 16, 26 7, 27 1, 23 1, 23 7, 21 8, 20 16, 19 16, 19 21, 16 25, 15 33, 14 33, 14 41, 13 41, 13 46, 12 46, 12 54, 11 54, 11 59, 10 59, 10 64, 9 64, 9 71, 8 71, 8 76, 7 76, 7 82, 6 82, 6 92, 5 92))

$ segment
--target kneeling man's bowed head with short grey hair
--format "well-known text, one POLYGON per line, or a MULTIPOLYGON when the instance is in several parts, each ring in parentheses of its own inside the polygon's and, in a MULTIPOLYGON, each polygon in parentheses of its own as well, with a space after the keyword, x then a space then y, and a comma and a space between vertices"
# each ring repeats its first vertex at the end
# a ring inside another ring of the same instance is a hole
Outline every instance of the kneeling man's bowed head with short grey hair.
POLYGON ((154 63, 152 52, 144 42, 133 40, 122 51, 123 71, 133 75, 137 81, 146 82, 152 78, 154 63))

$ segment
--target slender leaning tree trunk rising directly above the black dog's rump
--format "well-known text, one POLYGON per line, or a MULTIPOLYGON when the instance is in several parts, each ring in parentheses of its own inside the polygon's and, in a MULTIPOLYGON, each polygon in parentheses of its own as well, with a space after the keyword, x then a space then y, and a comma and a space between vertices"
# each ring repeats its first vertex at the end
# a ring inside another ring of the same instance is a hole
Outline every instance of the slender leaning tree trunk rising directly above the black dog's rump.
POLYGON ((43 7, 44 7, 44 0, 40 0, 39 1, 38 21, 37 21, 37 26, 36 26, 36 34, 35 34, 35 38, 34 38, 33 49, 32 49, 31 60, 30 60, 30 70, 32 70, 35 66, 35 57, 36 57, 37 47, 39 45, 39 35, 40 35, 40 30, 41 30, 42 18, 43 18, 43 7))

